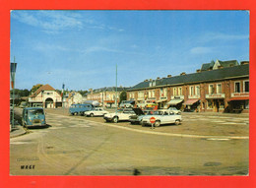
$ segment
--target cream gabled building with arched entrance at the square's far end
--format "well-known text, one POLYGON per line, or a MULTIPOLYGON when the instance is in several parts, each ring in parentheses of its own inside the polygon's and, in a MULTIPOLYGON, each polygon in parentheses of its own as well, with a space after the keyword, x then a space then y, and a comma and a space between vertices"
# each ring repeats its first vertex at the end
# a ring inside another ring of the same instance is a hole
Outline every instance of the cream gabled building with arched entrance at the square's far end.
POLYGON ((62 107, 62 97, 51 86, 43 85, 29 96, 29 105, 45 108, 62 107))

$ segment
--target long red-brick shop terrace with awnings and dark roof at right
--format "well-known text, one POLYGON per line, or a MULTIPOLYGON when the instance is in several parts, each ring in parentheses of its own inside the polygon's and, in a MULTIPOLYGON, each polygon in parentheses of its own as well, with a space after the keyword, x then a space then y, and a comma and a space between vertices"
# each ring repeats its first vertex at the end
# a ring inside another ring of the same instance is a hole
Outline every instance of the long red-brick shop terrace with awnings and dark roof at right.
POLYGON ((249 62, 217 60, 197 73, 145 80, 129 89, 127 98, 184 111, 249 112, 249 62))

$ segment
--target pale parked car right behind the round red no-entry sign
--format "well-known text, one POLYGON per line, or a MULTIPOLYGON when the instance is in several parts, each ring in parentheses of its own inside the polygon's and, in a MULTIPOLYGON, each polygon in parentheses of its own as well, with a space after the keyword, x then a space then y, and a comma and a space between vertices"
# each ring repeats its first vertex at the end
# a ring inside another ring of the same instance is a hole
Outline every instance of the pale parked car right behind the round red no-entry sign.
POLYGON ((152 117, 156 118, 156 122, 154 124, 155 127, 159 127, 162 124, 171 124, 171 123, 174 123, 175 125, 179 125, 182 121, 180 114, 176 114, 171 110, 160 109, 156 111, 154 115, 140 116, 139 120, 142 126, 151 125, 150 119, 152 117))

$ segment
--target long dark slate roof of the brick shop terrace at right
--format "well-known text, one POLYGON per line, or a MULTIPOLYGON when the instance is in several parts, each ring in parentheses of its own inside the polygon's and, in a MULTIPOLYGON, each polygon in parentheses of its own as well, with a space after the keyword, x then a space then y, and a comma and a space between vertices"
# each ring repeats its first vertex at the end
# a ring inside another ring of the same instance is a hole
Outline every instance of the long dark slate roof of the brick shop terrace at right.
MULTIPOLYGON (((224 69, 203 71, 200 73, 164 78, 156 80, 156 87, 218 81, 235 77, 249 77, 249 65, 239 65, 234 67, 227 67, 224 69)), ((127 91, 156 88, 150 87, 150 83, 151 81, 141 82, 127 91)))

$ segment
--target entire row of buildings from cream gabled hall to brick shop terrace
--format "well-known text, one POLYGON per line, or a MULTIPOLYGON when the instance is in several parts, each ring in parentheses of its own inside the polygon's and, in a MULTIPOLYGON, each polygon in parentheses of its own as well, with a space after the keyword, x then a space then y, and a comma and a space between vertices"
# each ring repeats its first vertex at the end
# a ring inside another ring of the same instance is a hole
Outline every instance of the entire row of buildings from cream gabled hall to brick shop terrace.
POLYGON ((44 85, 29 97, 30 106, 69 107, 85 100, 97 100, 104 107, 119 102, 121 92, 136 105, 151 100, 159 108, 175 106, 184 111, 249 112, 249 62, 236 60, 203 64, 196 73, 149 79, 132 88, 109 87, 90 90, 82 96, 69 93, 62 97, 49 85, 44 85), (115 98, 117 96, 117 98, 115 98))

